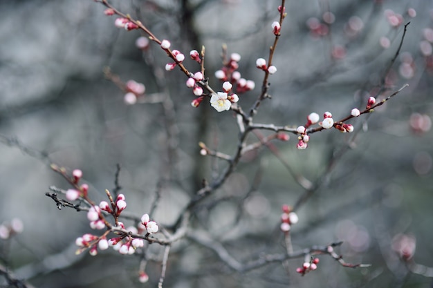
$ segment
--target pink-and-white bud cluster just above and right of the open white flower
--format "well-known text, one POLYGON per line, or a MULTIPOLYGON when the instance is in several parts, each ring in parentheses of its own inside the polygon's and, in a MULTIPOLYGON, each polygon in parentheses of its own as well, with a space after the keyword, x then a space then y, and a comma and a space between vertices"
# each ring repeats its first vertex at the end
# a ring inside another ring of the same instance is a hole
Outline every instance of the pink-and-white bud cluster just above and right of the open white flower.
POLYGON ((241 60, 241 55, 232 53, 230 60, 220 69, 216 70, 215 77, 221 81, 229 81, 234 85, 236 93, 246 93, 255 88, 255 83, 252 80, 242 78, 241 73, 237 70, 239 68, 238 62, 241 60))

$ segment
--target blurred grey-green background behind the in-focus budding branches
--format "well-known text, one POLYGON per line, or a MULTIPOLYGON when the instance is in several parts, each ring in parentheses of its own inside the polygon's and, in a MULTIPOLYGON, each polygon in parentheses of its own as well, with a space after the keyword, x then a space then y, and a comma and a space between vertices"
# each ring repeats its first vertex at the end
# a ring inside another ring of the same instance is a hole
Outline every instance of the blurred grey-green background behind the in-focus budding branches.
MULTIPOLYGON (((268 58, 279 1, 112 3, 186 56, 204 45, 205 77, 216 90, 222 44, 229 56, 239 53, 239 72, 255 81, 254 90, 239 96, 249 111, 263 79, 255 60, 268 58)), ((194 211, 192 236, 169 255, 165 287, 431 287, 433 1, 286 1, 286 12, 272 99, 261 103, 255 123, 297 127, 309 113, 325 111, 342 119, 352 108, 363 110, 370 95, 384 99, 409 86, 371 115, 351 119, 354 133, 314 133, 304 151, 291 135, 273 142, 277 155, 266 146, 245 155, 194 211), (243 263, 285 253, 282 204, 306 195, 294 175, 315 189, 297 207, 293 249, 344 241, 335 248, 344 260, 371 267, 351 269, 319 256, 317 270, 304 277, 295 272, 303 258, 237 273, 194 240, 194 232, 205 232, 243 263), (409 261, 401 259, 402 247, 409 247, 409 261)), ((119 164, 127 211, 138 216, 151 209, 163 179, 154 219, 164 226, 174 223, 203 178, 211 181, 226 165, 201 156, 198 143, 228 155, 237 149, 234 113, 217 113, 208 100, 192 108, 185 75, 165 71, 163 50, 154 43, 140 50, 140 31, 116 28, 115 19, 94 1, 0 1, 0 224, 24 227, 0 239, 0 264, 35 287, 156 287, 160 277, 157 244, 149 247, 146 284, 138 280, 139 257, 112 250, 75 256, 75 239, 97 232, 84 213, 59 210, 45 196, 52 185, 70 188, 50 162, 81 169, 95 202, 116 187, 119 164), (145 95, 129 105, 125 90, 107 78, 142 83, 145 95)), ((184 63, 200 69, 190 59, 184 63)), ((2 287, 22 287, 2 274, 2 287)))

